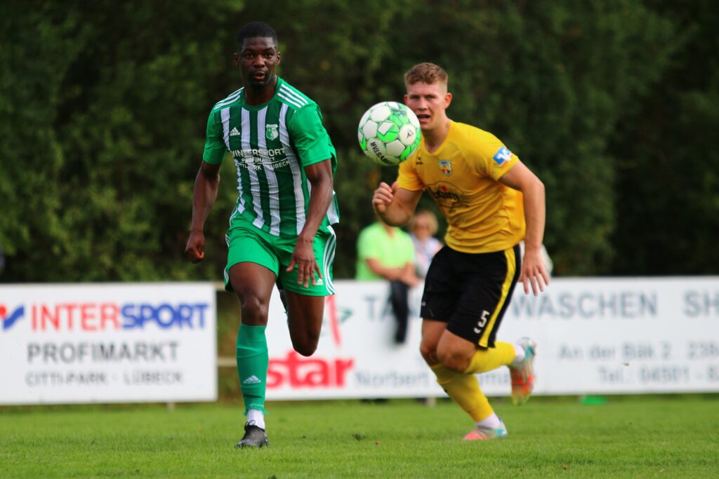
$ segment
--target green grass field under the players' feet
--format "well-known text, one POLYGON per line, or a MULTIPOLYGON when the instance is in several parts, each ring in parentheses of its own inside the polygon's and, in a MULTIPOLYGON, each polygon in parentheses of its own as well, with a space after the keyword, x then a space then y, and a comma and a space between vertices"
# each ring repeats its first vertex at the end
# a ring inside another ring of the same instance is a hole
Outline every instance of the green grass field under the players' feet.
POLYGON ((719 398, 495 400, 506 440, 463 442, 449 401, 270 404, 270 447, 236 450, 239 405, 0 410, 2 478, 715 478, 719 398))

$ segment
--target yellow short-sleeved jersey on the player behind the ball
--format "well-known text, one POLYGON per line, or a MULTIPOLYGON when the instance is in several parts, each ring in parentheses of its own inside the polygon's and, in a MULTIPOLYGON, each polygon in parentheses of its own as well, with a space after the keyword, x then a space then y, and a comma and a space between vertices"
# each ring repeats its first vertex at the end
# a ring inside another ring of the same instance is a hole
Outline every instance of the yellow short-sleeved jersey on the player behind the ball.
POLYGON ((522 193, 498 180, 519 159, 488 131, 452 121, 436 151, 422 139, 400 163, 398 185, 428 190, 449 224, 445 243, 464 253, 512 248, 524 238, 522 193))

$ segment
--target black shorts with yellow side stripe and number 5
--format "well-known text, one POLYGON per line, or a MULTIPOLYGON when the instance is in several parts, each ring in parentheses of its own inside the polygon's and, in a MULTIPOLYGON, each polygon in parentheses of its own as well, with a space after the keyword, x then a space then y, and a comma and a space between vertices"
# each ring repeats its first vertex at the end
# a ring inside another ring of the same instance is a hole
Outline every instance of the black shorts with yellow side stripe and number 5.
POLYGON ((495 253, 462 253, 449 246, 432 259, 420 315, 480 348, 493 348, 521 271, 519 246, 495 253))

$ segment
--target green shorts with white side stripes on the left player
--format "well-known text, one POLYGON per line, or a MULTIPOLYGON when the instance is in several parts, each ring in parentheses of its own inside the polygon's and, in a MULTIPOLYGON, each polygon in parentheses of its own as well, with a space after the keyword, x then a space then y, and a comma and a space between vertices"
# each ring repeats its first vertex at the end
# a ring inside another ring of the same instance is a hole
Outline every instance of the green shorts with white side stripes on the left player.
POLYGON ((332 282, 332 261, 334 261, 334 247, 336 236, 331 226, 320 228, 315 235, 312 248, 315 261, 319 266, 322 277, 316 278, 316 284, 311 282, 308 287, 297 284, 297 266, 288 272, 290 259, 297 243, 296 236, 273 236, 270 233, 255 228, 241 218, 232 221, 232 226, 225 236, 227 240, 227 266, 224 270, 226 291, 233 291, 229 282, 229 269, 235 264, 248 262, 256 263, 273 271, 277 275, 280 288, 287 291, 305 294, 306 296, 331 296, 334 294, 332 282))

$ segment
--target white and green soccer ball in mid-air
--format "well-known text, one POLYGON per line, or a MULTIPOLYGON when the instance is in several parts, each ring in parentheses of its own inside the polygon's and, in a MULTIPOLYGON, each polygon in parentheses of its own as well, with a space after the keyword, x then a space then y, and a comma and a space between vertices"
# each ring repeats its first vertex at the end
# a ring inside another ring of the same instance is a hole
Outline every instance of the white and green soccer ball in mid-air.
POLYGON ((384 166, 400 164, 419 146, 419 120, 409 108, 395 101, 383 101, 362 115, 357 139, 362 152, 384 166))

